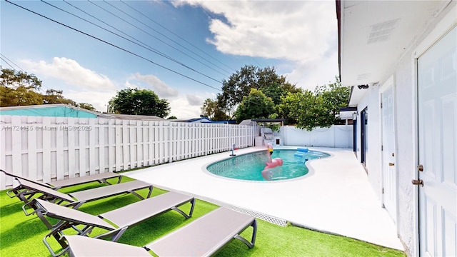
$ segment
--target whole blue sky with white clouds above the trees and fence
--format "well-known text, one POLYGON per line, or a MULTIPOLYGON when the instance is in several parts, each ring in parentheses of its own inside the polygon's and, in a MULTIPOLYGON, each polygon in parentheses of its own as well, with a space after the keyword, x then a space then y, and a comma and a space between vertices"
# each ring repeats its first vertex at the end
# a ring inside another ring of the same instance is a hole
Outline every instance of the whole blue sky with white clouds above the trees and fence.
POLYGON ((197 118, 243 66, 313 91, 338 76, 335 1, 0 1, 0 65, 106 111, 149 89, 197 118), (11 4, 12 3, 12 4, 11 4))

